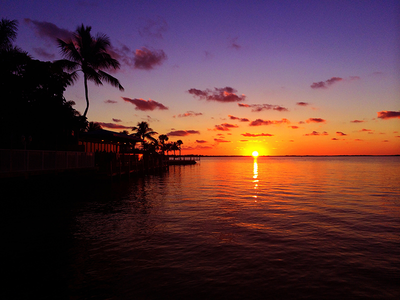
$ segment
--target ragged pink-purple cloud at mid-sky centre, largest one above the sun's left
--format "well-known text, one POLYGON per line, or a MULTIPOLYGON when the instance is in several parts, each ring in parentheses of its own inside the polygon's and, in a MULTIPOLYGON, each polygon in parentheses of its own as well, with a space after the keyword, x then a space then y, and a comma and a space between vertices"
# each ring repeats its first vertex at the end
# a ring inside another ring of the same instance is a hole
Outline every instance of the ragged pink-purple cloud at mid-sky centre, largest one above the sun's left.
POLYGON ((199 99, 205 99, 207 101, 218 101, 218 102, 236 102, 236 101, 244 101, 246 96, 236 95, 236 89, 225 86, 225 87, 214 87, 214 90, 209 88, 201 90, 196 88, 190 88, 188 93, 198 97, 199 99))

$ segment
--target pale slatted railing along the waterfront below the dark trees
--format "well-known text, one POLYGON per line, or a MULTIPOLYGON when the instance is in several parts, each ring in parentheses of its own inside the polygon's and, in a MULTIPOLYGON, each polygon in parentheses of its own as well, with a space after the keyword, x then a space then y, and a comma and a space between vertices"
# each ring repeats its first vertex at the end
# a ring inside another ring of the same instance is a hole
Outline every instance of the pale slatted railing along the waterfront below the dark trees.
POLYGON ((94 166, 94 153, 0 149, 0 172, 39 171, 94 166))

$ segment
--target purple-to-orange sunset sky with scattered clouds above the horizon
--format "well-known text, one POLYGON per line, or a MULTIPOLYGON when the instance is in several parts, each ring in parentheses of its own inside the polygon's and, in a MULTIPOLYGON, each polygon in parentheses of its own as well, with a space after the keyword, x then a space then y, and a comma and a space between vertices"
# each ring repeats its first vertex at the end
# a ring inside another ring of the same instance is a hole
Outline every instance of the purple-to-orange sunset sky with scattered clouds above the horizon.
MULTIPOLYGON (((0 7, 19 22, 15 44, 35 59, 62 58, 56 38, 81 23, 110 37, 121 63, 111 74, 125 91, 89 83, 87 118, 104 129, 147 121, 169 141, 181 139, 182 154, 400 154, 396 0, 0 7)), ((83 113, 82 75, 64 96, 83 113)))

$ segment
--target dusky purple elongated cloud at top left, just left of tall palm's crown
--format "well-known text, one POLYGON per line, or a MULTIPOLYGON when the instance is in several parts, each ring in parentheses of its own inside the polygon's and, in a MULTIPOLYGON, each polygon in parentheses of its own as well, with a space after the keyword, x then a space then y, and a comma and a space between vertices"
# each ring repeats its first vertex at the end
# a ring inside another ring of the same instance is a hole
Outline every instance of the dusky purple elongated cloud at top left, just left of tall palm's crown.
POLYGON ((36 21, 30 18, 24 18, 23 20, 30 27, 33 27, 35 33, 39 37, 46 38, 52 41, 54 44, 56 43, 57 38, 66 40, 72 36, 72 32, 68 29, 60 28, 50 22, 36 21))

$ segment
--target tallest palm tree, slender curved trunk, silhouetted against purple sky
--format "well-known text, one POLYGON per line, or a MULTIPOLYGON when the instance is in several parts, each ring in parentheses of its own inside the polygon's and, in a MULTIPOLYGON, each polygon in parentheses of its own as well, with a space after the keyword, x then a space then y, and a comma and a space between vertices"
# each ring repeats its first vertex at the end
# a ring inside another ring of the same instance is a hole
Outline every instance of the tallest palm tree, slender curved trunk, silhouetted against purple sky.
POLYGON ((107 53, 110 46, 109 38, 105 34, 90 34, 91 26, 78 26, 67 41, 57 38, 58 47, 67 59, 57 60, 64 70, 71 71, 74 80, 78 78, 77 71, 83 72, 84 92, 86 97, 86 109, 83 117, 86 117, 89 108, 89 98, 87 94, 87 80, 93 81, 96 85, 102 85, 102 81, 111 84, 123 91, 124 88, 119 80, 102 69, 118 69, 119 62, 107 53))

